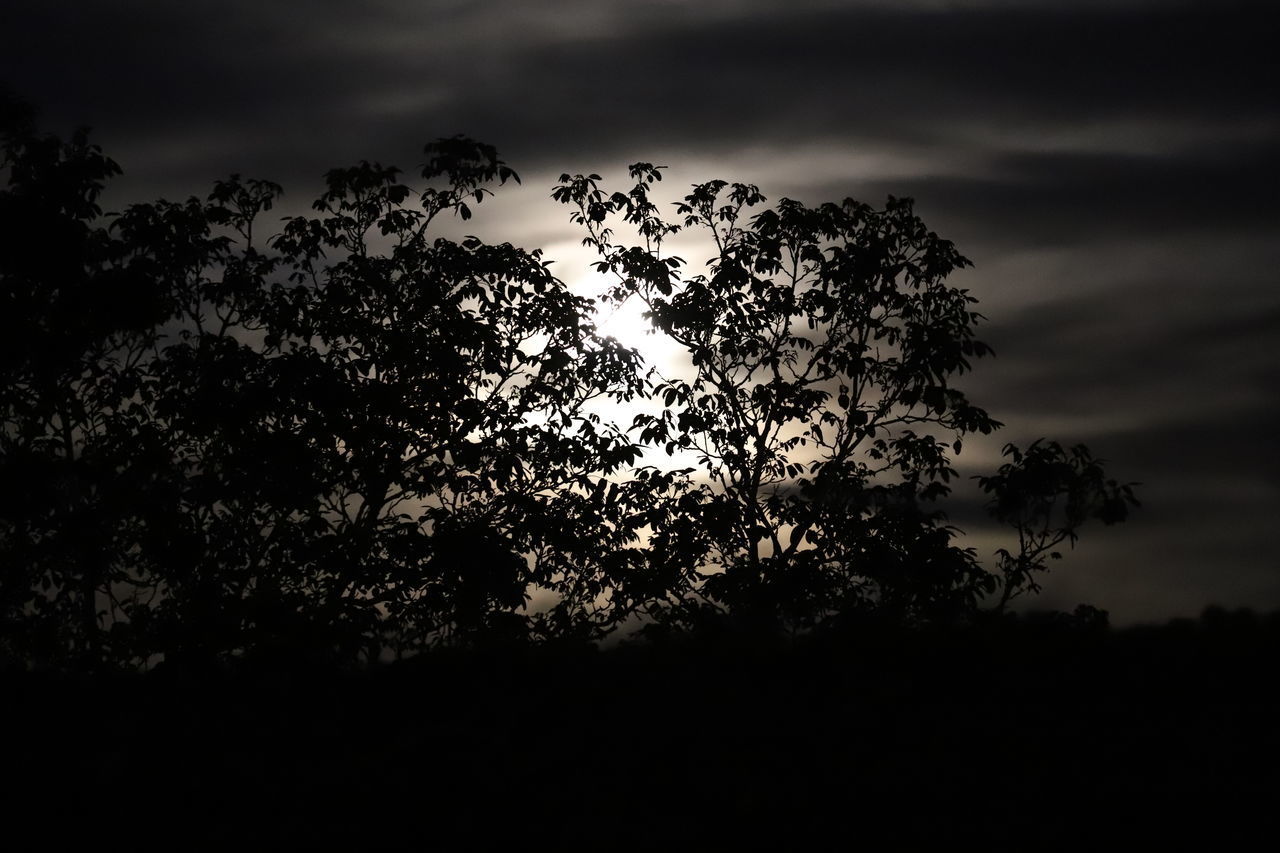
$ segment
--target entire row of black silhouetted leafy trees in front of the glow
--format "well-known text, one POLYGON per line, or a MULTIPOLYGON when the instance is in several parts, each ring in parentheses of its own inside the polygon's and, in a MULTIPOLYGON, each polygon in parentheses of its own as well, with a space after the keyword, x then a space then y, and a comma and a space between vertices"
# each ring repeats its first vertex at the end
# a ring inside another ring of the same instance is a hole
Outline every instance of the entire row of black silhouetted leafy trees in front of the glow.
POLYGON ((1010 448, 982 485, 1019 547, 991 571, 955 544, 936 506, 950 457, 998 424, 951 386, 987 355, 973 298, 945 284, 966 261, 905 200, 748 219, 759 191, 710 182, 668 224, 653 167, 627 193, 566 175, 554 196, 618 278, 604 301, 644 300, 689 355, 687 377, 654 378, 539 251, 435 236, 518 179, 489 146, 429 145, 416 187, 330 170, 315 215, 273 231, 274 183, 104 215, 119 168, 84 134, 42 136, 18 109, 4 133, 10 660, 965 620, 1133 503, 1083 448, 1010 448), (681 227, 714 242, 705 275, 663 255, 681 227), (653 398, 660 415, 602 415, 653 398), (641 466, 645 446, 699 464, 641 466))

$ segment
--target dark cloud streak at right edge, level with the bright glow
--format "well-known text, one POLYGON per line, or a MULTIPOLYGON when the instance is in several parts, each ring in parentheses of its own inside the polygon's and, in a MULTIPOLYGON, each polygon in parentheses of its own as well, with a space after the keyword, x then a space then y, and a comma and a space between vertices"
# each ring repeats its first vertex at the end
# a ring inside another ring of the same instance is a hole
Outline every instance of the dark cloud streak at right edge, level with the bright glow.
POLYGON ((1157 287, 1101 289, 998 318, 983 334, 1001 355, 980 375, 984 393, 1020 415, 1069 406, 1143 421, 1187 412, 1226 420, 1253 406, 1280 415, 1271 393, 1280 295, 1196 284, 1204 300, 1169 300, 1157 287))

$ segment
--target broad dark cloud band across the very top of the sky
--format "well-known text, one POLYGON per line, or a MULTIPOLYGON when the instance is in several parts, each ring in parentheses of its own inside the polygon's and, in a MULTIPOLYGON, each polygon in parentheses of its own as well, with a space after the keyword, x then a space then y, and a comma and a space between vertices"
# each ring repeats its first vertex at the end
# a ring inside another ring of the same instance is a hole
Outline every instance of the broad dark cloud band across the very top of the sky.
POLYGON ((323 168, 468 132, 566 168, 636 147, 1275 118, 1276 29, 1243 4, 12 5, 29 35, 3 60, 19 91, 60 120, 189 150, 183 169, 220 165, 207 136, 323 168))

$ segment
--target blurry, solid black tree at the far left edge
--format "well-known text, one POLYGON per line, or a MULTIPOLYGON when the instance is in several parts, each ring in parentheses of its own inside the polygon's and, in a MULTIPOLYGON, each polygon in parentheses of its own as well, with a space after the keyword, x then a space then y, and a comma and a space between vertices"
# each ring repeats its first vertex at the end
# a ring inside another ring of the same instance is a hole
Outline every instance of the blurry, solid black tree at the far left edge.
POLYGON ((97 222, 119 168, 83 132, 37 134, 32 115, 6 100, 0 120, 0 642, 84 660, 118 571, 106 435, 159 318, 97 222))

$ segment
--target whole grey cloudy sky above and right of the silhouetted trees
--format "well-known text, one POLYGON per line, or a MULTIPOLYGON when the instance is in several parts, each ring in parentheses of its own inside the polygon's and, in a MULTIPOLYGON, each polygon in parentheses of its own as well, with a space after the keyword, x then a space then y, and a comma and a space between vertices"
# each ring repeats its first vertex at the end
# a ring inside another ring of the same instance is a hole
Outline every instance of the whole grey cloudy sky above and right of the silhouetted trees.
MULTIPOLYGON (((1140 512, 1041 603, 1280 607, 1280 74, 1267 4, 1142 0, 6 0, 0 81, 91 126, 110 201, 488 141, 489 238, 585 259, 561 172, 668 164, 817 204, 913 196, 998 357, 1002 441, 1085 442, 1140 512)), ((966 448, 972 473, 1000 442, 966 448)))

